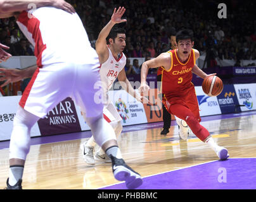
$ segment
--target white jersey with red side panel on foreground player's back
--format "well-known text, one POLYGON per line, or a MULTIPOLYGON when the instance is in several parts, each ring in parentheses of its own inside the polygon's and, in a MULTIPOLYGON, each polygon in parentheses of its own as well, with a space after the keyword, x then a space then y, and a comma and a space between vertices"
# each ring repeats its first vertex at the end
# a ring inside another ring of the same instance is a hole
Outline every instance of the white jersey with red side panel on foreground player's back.
POLYGON ((74 61, 77 64, 94 64, 98 59, 77 13, 42 7, 30 13, 23 11, 16 23, 34 45, 39 67, 74 61))

